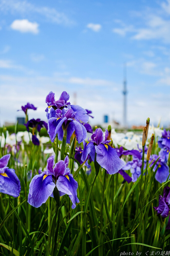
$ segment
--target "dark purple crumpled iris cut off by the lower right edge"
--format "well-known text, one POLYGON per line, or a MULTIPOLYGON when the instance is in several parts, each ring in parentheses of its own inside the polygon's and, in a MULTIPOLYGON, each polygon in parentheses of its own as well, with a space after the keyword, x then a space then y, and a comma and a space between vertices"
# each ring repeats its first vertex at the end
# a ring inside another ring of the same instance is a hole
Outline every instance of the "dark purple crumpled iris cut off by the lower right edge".
POLYGON ((170 207, 170 188, 166 186, 164 188, 163 197, 159 195, 158 207, 153 207, 157 211, 157 215, 161 215, 162 218, 166 218, 169 215, 170 207))

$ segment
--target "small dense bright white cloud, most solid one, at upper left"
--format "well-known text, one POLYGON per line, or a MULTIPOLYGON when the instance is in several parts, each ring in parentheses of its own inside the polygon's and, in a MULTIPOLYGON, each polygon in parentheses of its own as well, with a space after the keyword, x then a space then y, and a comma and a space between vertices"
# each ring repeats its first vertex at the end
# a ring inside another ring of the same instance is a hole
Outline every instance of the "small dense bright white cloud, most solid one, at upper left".
POLYGON ((16 19, 11 24, 11 28, 14 30, 18 30, 21 33, 33 33, 38 34, 38 23, 36 22, 30 22, 27 19, 16 19))

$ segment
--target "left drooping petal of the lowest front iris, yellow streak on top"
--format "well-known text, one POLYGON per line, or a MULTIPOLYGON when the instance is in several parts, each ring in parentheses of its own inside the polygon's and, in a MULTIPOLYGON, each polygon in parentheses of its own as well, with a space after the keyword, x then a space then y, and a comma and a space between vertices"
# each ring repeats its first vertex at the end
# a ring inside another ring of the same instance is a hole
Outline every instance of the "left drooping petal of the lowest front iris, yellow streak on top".
POLYGON ((28 203, 36 208, 47 201, 55 188, 52 175, 45 175, 41 173, 34 176, 29 185, 28 203))

